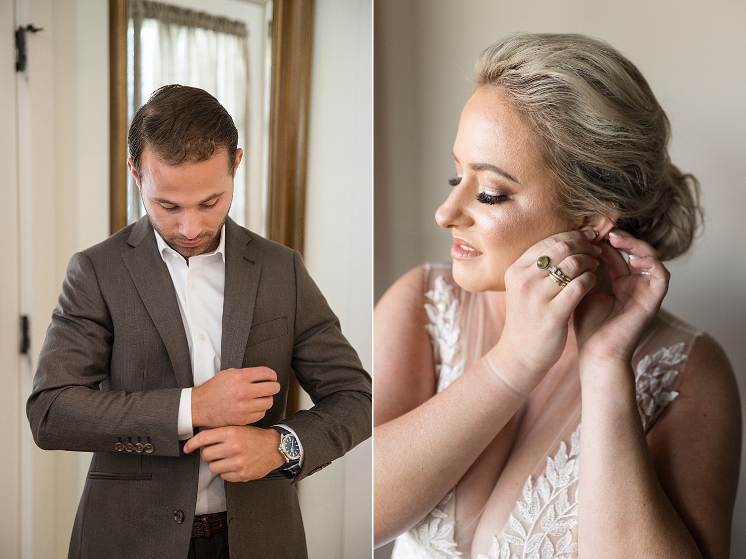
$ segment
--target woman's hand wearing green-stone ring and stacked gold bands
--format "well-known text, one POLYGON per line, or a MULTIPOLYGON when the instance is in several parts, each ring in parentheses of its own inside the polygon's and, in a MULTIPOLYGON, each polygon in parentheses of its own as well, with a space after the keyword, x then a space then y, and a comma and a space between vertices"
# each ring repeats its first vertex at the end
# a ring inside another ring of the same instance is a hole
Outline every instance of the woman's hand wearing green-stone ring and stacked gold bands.
POLYGON ((595 285, 593 231, 568 231, 528 249, 505 273, 506 316, 500 341, 487 360, 501 379, 527 396, 557 363, 567 343, 568 322, 575 307, 595 285), (561 289, 536 260, 549 257, 571 279, 561 289))

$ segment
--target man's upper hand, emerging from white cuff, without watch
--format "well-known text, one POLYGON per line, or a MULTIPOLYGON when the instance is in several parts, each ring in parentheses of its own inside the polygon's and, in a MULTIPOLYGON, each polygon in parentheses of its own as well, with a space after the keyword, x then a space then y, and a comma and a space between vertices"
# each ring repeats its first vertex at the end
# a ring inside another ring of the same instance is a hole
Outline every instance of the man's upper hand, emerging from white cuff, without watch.
POLYGON ((225 427, 259 421, 272 407, 272 396, 280 392, 277 379, 269 367, 220 371, 192 388, 192 425, 225 427))

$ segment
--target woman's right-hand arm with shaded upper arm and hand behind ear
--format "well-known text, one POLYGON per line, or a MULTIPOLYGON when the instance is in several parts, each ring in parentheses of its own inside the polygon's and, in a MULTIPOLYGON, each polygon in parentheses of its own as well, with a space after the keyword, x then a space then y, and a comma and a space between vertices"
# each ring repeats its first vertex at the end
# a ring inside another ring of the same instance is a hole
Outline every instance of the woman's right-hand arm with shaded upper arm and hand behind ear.
MULTIPOLYGON (((627 272, 607 319, 597 320, 606 313, 603 295, 590 296, 595 302, 576 313, 583 391, 578 556, 727 558, 741 439, 733 372, 717 344, 699 338, 680 395, 646 440, 625 346, 639 338, 624 329, 635 331, 656 310, 668 272, 642 241, 613 242, 642 256, 630 272, 651 275, 627 272)), ((615 282, 624 275, 618 261, 609 269, 615 282)))

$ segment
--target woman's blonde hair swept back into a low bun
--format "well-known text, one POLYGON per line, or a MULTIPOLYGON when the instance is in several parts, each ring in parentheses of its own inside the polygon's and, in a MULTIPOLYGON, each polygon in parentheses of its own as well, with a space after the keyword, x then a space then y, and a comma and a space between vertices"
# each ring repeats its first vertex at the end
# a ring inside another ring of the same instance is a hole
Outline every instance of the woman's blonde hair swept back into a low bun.
POLYGON ((482 53, 474 75, 535 131, 569 218, 616 214, 663 260, 689 249, 699 184, 671 163, 668 118, 627 58, 583 35, 513 33, 482 53))

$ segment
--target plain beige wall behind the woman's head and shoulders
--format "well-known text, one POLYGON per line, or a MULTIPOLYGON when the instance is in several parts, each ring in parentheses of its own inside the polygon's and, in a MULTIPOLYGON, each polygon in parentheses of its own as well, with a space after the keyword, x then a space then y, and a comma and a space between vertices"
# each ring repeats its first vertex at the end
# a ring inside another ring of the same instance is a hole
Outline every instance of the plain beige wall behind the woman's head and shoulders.
MULTIPOLYGON (((670 264, 664 306, 720 341, 743 400, 746 4, 377 0, 374 10, 375 298, 425 260, 450 261, 450 235, 433 213, 450 190, 451 146, 471 90, 466 77, 480 52, 507 31, 601 37, 648 78, 671 119, 674 162, 702 183, 706 229, 689 256, 670 264)), ((744 487, 734 558, 746 557, 744 487)))

